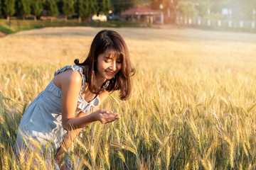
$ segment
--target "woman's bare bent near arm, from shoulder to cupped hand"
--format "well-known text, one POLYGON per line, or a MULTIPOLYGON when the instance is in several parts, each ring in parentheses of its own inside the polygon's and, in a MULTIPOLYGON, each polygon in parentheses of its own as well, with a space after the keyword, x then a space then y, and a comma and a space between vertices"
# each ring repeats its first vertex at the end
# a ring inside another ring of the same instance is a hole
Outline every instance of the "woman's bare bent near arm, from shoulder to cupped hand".
MULTIPOLYGON (((99 120, 101 123, 107 123, 117 119, 117 113, 111 113, 103 109, 88 116, 75 117, 75 110, 78 106, 78 96, 82 85, 82 77, 79 72, 72 70, 67 70, 57 76, 53 81, 58 84, 62 91, 61 114, 62 124, 65 130, 79 129, 96 120, 99 120)), ((102 94, 102 99, 106 97, 105 95, 102 94)))

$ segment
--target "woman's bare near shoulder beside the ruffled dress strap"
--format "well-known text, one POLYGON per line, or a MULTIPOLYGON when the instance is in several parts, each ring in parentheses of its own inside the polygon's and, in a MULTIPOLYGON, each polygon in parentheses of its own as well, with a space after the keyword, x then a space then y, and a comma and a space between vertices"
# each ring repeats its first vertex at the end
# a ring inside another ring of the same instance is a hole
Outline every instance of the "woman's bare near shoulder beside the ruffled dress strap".
POLYGON ((62 89, 63 84, 70 84, 71 82, 82 86, 82 77, 78 71, 67 69, 65 72, 59 73, 53 77, 53 83, 60 89, 62 89))

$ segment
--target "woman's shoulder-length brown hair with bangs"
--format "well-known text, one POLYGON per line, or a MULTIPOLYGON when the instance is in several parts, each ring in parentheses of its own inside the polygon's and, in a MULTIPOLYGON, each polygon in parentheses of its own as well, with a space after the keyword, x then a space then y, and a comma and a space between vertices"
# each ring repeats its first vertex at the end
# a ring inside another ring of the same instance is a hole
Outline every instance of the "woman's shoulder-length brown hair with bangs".
POLYGON ((87 69, 83 70, 83 73, 85 74, 86 82, 89 84, 89 90, 93 94, 99 94, 101 89, 97 87, 96 81, 96 73, 98 72, 97 57, 105 52, 117 55, 122 60, 122 69, 117 72, 113 79, 110 79, 106 90, 109 92, 119 90, 119 98, 126 100, 132 91, 131 77, 134 75, 135 69, 129 60, 127 45, 119 33, 114 30, 101 30, 93 39, 85 62, 79 63, 78 59, 74 62, 76 65, 87 67, 87 69))

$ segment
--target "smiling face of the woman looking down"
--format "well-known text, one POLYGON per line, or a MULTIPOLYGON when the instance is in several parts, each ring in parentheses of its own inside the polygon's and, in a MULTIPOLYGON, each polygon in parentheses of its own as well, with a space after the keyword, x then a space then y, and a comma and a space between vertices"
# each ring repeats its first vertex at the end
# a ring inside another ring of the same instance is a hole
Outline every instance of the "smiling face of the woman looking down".
POLYGON ((102 53, 97 57, 96 79, 112 79, 122 69, 121 57, 102 53))

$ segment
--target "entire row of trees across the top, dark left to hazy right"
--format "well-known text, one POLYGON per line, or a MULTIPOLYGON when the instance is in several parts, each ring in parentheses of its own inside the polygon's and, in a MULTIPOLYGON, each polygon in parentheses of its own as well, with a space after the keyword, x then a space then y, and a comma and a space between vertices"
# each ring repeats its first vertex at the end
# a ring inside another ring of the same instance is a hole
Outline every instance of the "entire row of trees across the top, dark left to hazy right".
POLYGON ((171 23, 175 23, 177 16, 220 19, 223 17, 223 8, 227 8, 228 17, 235 20, 256 18, 255 0, 0 0, 0 16, 4 16, 8 21, 10 16, 23 16, 23 19, 26 16, 34 16, 36 21, 36 18, 42 15, 61 14, 67 21, 68 17, 76 13, 81 22, 87 21, 92 14, 107 15, 110 10, 120 14, 140 4, 163 11, 166 21, 171 23))

